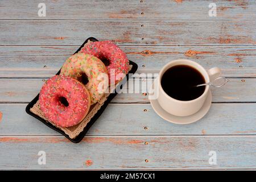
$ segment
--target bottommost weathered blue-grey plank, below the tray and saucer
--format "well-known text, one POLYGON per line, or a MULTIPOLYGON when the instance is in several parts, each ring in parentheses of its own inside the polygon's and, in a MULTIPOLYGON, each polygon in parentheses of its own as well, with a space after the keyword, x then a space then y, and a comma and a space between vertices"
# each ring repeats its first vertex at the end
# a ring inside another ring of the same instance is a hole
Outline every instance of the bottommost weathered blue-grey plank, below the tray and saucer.
POLYGON ((256 168, 255 136, 86 137, 79 144, 63 137, 0 137, 0 147, 1 169, 256 168), (46 165, 38 164, 39 151, 46 152, 46 165), (215 166, 210 151, 216 151, 215 166))

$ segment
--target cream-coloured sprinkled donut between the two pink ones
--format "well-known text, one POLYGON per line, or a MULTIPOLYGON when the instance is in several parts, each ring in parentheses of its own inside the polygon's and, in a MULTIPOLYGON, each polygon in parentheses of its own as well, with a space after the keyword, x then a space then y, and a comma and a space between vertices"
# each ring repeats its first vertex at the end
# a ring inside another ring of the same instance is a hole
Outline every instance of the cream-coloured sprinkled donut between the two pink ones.
POLYGON ((92 105, 104 96, 109 86, 104 63, 97 57, 85 53, 76 53, 69 57, 63 64, 60 75, 70 76, 84 84, 90 93, 92 105))

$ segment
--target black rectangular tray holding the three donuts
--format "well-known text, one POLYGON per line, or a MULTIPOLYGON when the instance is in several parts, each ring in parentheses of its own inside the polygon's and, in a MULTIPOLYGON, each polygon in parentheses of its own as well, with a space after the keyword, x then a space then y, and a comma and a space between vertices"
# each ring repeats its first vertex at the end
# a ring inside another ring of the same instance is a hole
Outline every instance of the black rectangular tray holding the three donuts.
MULTIPOLYGON (((92 42, 98 41, 96 38, 92 38, 92 37, 86 39, 85 42, 82 44, 82 46, 80 46, 80 48, 77 49, 77 51, 76 51, 75 53, 79 52, 80 49, 81 49, 82 47, 84 47, 84 45, 88 42, 88 40, 90 40, 90 41, 92 41, 92 42)), ((74 53, 74 54, 75 54, 75 53, 74 53)), ((134 74, 134 73, 137 71, 137 69, 138 69, 138 65, 137 65, 136 63, 134 63, 133 61, 130 61, 130 60, 129 60, 129 64, 130 64, 130 65, 133 65, 133 67, 131 68, 131 70, 129 71, 129 73, 134 74)), ((126 75, 126 76, 127 76, 127 80, 129 79, 129 73, 126 75)), ((59 75, 59 74, 60 74, 60 71, 57 72, 56 75, 59 75)), ((123 82, 123 84, 125 84, 125 82, 123 82)), ((120 86, 120 88, 122 88, 122 87, 120 86)), ((104 104, 101 106, 101 108, 97 111, 97 113, 93 116, 93 118, 90 119, 90 122, 87 123, 87 125, 84 127, 84 130, 83 130, 79 135, 77 135, 76 138, 73 138, 73 139, 70 138, 67 134, 65 134, 64 131, 60 130, 60 129, 57 128, 56 126, 53 126, 50 122, 47 122, 47 121, 44 120, 43 118, 39 117, 39 115, 36 115, 36 114, 34 114, 34 113, 32 113, 32 112, 30 111, 30 108, 32 108, 32 107, 36 104, 36 102, 38 101, 38 99, 39 99, 39 94, 27 105, 27 107, 26 107, 26 112, 27 112, 27 114, 32 115, 32 117, 35 117, 36 119, 39 119, 39 121, 43 122, 45 125, 49 126, 51 129, 53 129, 53 130, 55 130, 55 131, 57 131, 57 132, 63 134, 66 138, 68 138, 69 140, 71 140, 71 142, 73 142, 73 143, 79 143, 79 142, 81 142, 81 140, 84 138, 84 136, 85 136, 85 134, 87 133, 87 131, 89 130, 89 128, 93 125, 93 123, 98 119, 98 117, 100 117, 100 115, 101 115, 101 114, 103 113, 103 111, 106 109, 106 106, 108 106, 109 102, 110 102, 116 95, 117 95, 117 92, 110 93, 109 97, 108 97, 107 100, 104 102, 104 104)))

